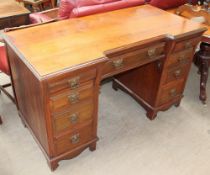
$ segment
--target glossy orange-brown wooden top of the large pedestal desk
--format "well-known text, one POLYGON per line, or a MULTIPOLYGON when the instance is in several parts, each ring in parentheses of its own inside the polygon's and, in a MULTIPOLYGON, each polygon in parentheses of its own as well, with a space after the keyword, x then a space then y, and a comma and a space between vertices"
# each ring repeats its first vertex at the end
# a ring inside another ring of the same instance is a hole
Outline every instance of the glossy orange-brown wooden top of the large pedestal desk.
MULTIPOLYGON (((150 5, 6 33, 40 76, 103 57, 104 51, 202 25, 150 5)), ((7 39, 8 40, 8 39, 7 39)))

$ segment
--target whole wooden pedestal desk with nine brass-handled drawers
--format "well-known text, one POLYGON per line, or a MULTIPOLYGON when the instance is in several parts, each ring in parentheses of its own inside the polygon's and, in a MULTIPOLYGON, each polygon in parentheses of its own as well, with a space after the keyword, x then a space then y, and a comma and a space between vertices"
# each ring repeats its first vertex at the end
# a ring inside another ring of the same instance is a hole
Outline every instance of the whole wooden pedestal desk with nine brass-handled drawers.
POLYGON ((179 105, 200 24, 149 5, 5 33, 19 115, 49 166, 96 149, 100 82, 154 119, 179 105))

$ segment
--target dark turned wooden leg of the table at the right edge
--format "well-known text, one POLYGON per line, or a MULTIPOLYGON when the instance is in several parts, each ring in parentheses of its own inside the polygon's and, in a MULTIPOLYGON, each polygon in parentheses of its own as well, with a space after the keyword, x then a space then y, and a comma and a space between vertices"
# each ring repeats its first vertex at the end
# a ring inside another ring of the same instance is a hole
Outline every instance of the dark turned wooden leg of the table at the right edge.
POLYGON ((194 63, 199 69, 200 73, 200 95, 199 98, 202 103, 206 103, 206 84, 208 80, 208 72, 210 66, 210 44, 202 42, 200 44, 200 50, 196 52, 194 56, 194 63))

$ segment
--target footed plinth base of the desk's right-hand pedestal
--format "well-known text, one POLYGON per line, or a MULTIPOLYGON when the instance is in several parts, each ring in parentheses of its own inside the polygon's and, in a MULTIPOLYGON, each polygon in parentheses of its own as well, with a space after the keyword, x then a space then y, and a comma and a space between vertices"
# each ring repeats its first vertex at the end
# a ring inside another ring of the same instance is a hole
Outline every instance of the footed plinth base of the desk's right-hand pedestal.
POLYGON ((128 87, 124 86, 117 79, 113 79, 112 88, 114 90, 120 89, 120 90, 128 93, 129 95, 131 95, 147 111, 146 116, 150 120, 154 120, 157 117, 157 113, 159 111, 165 111, 165 110, 169 109, 173 105, 175 105, 176 107, 178 107, 180 105, 181 99, 183 97, 183 96, 179 96, 179 97, 174 98, 169 103, 166 103, 166 104, 164 104, 162 106, 153 107, 150 104, 148 104, 145 100, 143 100, 141 97, 139 97, 135 92, 133 92, 132 90, 130 90, 128 87))

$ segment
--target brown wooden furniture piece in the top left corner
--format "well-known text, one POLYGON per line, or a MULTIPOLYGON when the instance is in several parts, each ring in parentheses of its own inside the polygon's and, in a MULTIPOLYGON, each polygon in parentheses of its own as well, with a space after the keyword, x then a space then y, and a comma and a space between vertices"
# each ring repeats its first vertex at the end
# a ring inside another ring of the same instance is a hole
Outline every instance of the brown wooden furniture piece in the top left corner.
POLYGON ((0 2, 0 30, 29 24, 29 13, 15 1, 0 2))

